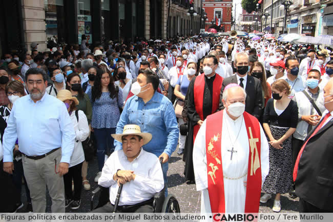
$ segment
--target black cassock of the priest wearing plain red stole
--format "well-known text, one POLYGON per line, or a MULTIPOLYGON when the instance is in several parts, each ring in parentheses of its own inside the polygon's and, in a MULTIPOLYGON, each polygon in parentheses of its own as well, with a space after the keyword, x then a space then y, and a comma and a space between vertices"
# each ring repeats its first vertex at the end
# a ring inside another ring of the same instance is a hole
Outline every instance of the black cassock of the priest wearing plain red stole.
MULTIPOLYGON (((207 78, 205 76, 205 87, 204 87, 204 94, 203 94, 203 118, 206 119, 208 115, 212 114, 212 104, 213 104, 213 82, 215 79, 215 76, 212 76, 211 78, 207 78)), ((194 169, 193 169, 193 128, 195 125, 197 125, 198 121, 200 120, 199 114, 195 110, 194 105, 194 82, 196 77, 194 77, 188 88, 188 93, 185 97, 185 110, 188 111, 188 126, 189 126, 189 133, 186 136, 185 140, 185 146, 184 146, 184 155, 183 155, 183 161, 185 162, 185 169, 184 169, 184 175, 186 181, 195 181, 194 178, 194 169)), ((203 119, 203 120, 204 120, 203 119)))

